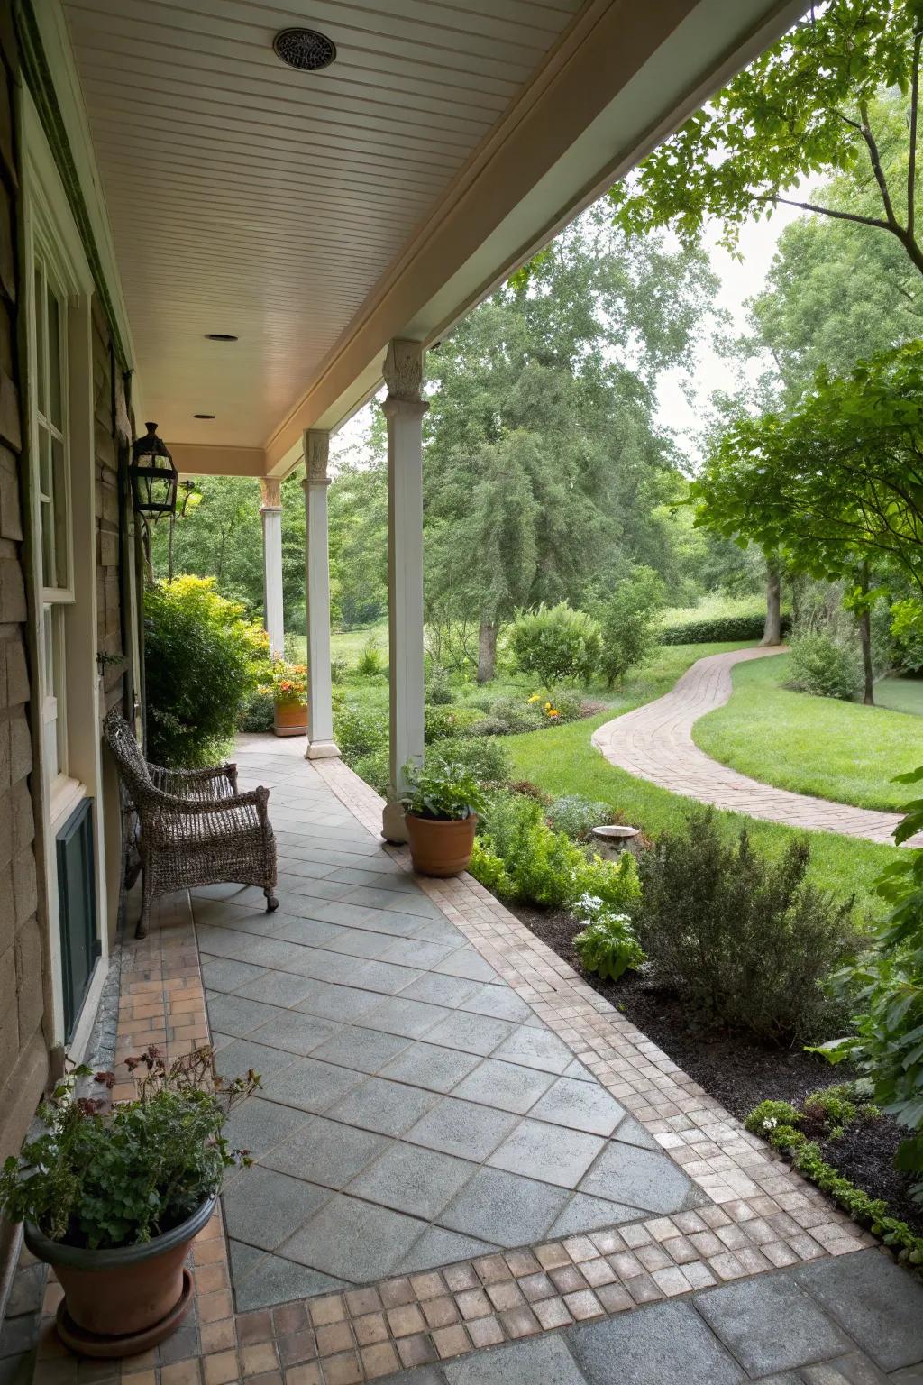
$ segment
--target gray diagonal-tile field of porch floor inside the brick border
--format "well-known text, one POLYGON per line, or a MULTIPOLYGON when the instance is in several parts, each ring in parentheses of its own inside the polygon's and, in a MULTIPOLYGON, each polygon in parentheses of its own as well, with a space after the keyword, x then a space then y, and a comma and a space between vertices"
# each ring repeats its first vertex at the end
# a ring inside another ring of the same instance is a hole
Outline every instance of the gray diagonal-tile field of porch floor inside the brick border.
POLYGON ((256 1161, 224 1195, 238 1310, 699 1205, 320 776, 268 745, 246 777, 281 907, 192 893, 219 1071, 263 1075, 230 1129, 256 1161))

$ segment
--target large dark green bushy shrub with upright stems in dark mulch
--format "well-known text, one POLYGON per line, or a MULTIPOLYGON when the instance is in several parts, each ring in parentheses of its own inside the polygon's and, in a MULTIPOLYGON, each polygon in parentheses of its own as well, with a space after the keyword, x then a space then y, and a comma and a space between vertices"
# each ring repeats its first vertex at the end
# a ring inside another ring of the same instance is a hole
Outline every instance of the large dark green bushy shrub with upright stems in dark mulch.
POLYGON ((725 841, 711 809, 645 853, 638 939, 692 1012, 768 1040, 818 1033, 830 1014, 822 985, 857 939, 852 900, 808 885, 810 859, 807 838, 774 861, 750 849, 746 830, 725 841))

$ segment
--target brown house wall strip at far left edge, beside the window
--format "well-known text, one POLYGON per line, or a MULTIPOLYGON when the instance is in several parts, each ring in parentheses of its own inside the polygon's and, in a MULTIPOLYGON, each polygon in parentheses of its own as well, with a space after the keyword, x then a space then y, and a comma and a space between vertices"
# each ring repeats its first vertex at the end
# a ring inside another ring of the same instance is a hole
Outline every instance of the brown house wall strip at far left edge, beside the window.
POLYGON ((17 132, 18 54, 0 7, 0 1159, 19 1148, 48 1058, 30 770, 24 562, 17 132))

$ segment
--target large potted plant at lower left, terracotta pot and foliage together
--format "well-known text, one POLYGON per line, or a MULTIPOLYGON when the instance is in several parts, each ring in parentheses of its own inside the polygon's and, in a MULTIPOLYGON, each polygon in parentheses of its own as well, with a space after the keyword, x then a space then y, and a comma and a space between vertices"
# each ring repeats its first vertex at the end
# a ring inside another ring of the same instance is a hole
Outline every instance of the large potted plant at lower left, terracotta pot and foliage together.
MULTIPOLYGON (((75 1097, 93 1071, 73 1068, 39 1108, 44 1132, 0 1172, 0 1212, 25 1222, 26 1245, 54 1267, 58 1335, 83 1356, 131 1356, 177 1327, 192 1302, 190 1242, 224 1170, 250 1162, 223 1126, 255 1072, 223 1082, 208 1047, 169 1065, 151 1047, 127 1066, 138 1094, 115 1107, 75 1097)), ((115 1075, 94 1080, 111 1089, 115 1075)))

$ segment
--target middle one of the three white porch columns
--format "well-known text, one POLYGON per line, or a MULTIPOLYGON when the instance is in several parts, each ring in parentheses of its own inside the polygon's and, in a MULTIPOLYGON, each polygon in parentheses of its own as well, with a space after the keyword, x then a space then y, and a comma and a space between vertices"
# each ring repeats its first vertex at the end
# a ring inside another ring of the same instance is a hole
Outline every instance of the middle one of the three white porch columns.
POLYGON ((307 618, 307 751, 309 760, 339 755, 333 741, 331 683, 331 578, 327 548, 328 432, 304 432, 304 612, 307 618))

